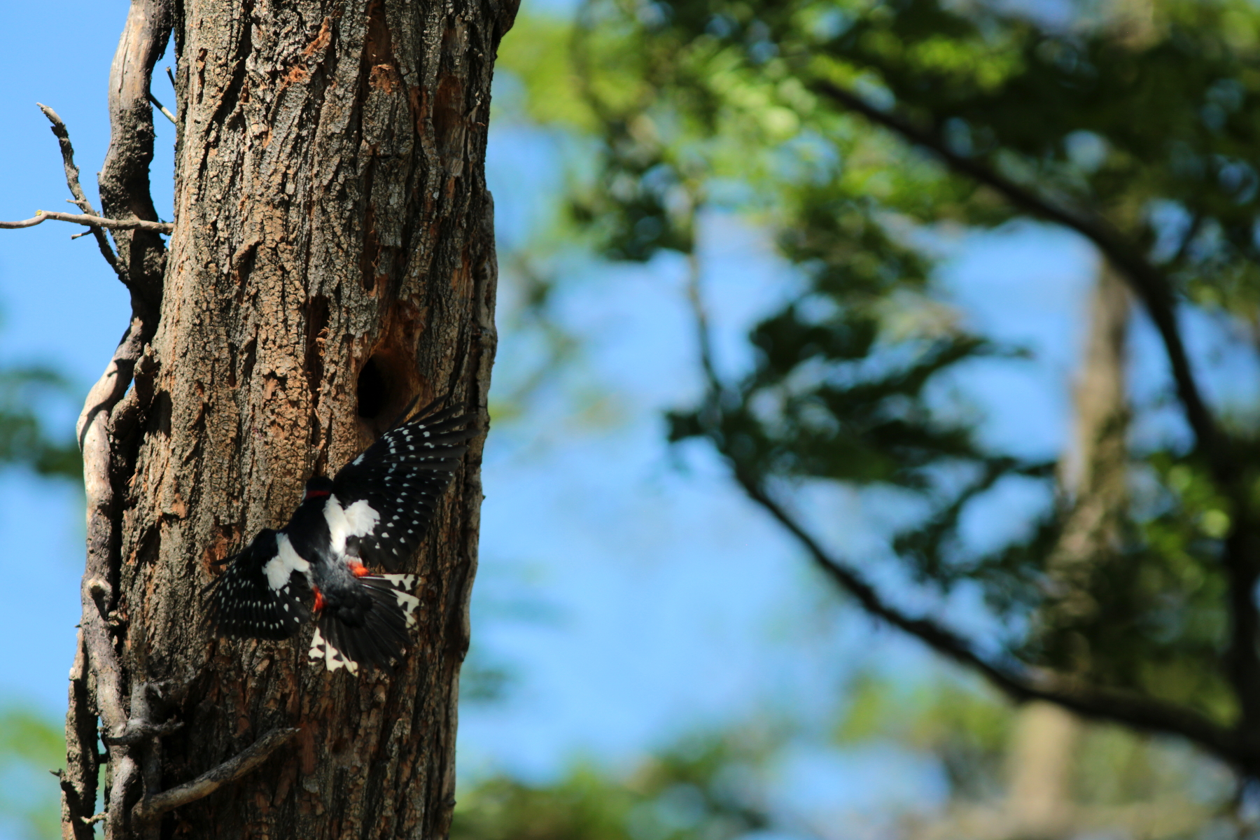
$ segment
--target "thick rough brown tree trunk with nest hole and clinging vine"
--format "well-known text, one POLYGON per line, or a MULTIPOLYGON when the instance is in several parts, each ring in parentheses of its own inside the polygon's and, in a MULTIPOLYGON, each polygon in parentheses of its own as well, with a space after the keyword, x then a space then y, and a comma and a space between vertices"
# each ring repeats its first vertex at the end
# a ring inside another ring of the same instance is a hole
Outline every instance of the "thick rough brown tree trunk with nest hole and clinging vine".
MULTIPOLYGON (((102 214, 156 219, 147 89, 174 34, 175 225, 169 246, 113 230, 116 257, 98 236, 132 321, 79 423, 67 839, 92 836, 98 761, 111 837, 445 836, 480 438, 415 559, 422 615, 397 670, 328 674, 309 637, 215 639, 202 591, 413 398, 451 394, 485 427, 483 164, 518 1, 132 0, 102 214)), ((76 190, 64 139, 63 154, 76 190)))

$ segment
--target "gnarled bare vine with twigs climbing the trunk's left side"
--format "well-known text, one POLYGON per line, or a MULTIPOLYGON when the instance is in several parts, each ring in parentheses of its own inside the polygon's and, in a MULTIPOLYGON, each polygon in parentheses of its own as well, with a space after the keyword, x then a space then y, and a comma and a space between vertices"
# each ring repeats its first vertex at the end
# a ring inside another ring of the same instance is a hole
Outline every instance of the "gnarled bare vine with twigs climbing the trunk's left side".
POLYGON ((145 345, 158 330, 161 307, 163 280, 166 264, 166 246, 158 233, 170 233, 174 225, 156 222, 152 198, 149 194, 149 162, 152 160, 152 110, 146 97, 152 67, 170 37, 173 25, 173 0, 132 0, 127 13, 118 49, 110 68, 110 149, 101 167, 101 212, 96 215, 78 183, 78 169, 73 162, 73 149, 64 123, 50 108, 40 106, 53 123, 53 133, 62 144, 62 161, 66 165, 67 184, 74 195, 74 204, 86 210, 73 213, 38 213, 23 222, 0 223, 0 228, 24 228, 42 224, 48 219, 86 224, 97 234, 97 244, 106 261, 131 292, 131 321, 123 332, 113 358, 84 400, 76 433, 83 451, 83 489, 87 496, 87 559, 83 573, 83 651, 86 679, 77 690, 72 680, 71 705, 67 712, 67 762, 77 758, 73 773, 68 773, 74 790, 67 790, 62 800, 63 835, 89 840, 92 829, 82 817, 93 812, 96 749, 91 743, 91 758, 79 744, 79 732, 96 729, 100 717, 106 734, 113 739, 122 737, 108 748, 106 840, 123 840, 131 832, 127 826, 129 800, 135 797, 136 780, 141 775, 137 756, 145 759, 145 781, 160 766, 152 761, 158 756, 152 738, 142 739, 141 747, 126 739, 129 717, 123 709, 123 690, 129 679, 141 693, 136 707, 132 691, 132 712, 146 723, 142 674, 127 674, 113 649, 106 621, 113 607, 116 593, 112 587, 118 579, 121 560, 121 516, 118 487, 115 481, 126 472, 135 458, 134 451, 117 446, 111 434, 111 414, 127 392, 136 361, 145 345), (112 217, 112 218, 111 218, 112 217), (103 228, 116 230, 113 242, 117 253, 108 247, 103 228), (130 232, 130 233, 123 233, 130 232), (120 236, 121 234, 121 236, 120 236), (86 690, 93 684, 96 691, 86 690), (91 778, 89 778, 91 775, 91 778))

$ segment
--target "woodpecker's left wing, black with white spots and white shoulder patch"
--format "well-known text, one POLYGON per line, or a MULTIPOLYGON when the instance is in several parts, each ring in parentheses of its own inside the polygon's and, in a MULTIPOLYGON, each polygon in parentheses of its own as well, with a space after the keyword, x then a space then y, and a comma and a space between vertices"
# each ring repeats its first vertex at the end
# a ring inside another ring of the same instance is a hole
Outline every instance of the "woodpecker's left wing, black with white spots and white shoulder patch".
POLYGON ((210 616, 220 635, 289 639, 310 617, 309 564, 289 538, 266 529, 210 584, 210 616))

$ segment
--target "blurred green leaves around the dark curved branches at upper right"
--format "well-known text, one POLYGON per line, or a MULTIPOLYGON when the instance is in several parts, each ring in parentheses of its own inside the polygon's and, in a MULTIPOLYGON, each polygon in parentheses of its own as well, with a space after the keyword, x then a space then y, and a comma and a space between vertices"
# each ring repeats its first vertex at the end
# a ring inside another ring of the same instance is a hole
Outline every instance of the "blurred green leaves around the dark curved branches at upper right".
MULTIPOLYGON (((852 91, 1034 201, 1102 224, 1178 302, 1241 325, 1235 346, 1249 351, 1260 9, 1133 8, 1149 20, 1105 5, 1046 24, 941 0, 588 0, 573 26, 527 23, 503 62, 534 118, 597 140, 571 204, 607 257, 696 259, 699 214, 723 212, 774 232, 796 271, 791 300, 748 334, 752 368, 673 412, 672 440, 709 441, 759 484, 897 487, 922 515, 888 535, 887 555, 927 592, 979 584, 1012 628, 988 647, 1228 724, 1227 547, 1260 521, 1260 492, 1223 487, 1197 443, 1148 442, 1130 452, 1131 499, 1118 538, 1087 558, 1086 589, 1051 584, 1072 502, 1048 458, 982 443, 987 418, 956 388, 978 360, 1021 354, 966 329, 931 248, 1028 208, 829 93, 852 91), (1040 485, 1047 504, 1007 544, 969 545, 970 511, 1012 482, 1040 485)), ((1257 416, 1242 407, 1230 427, 1242 487, 1260 486, 1257 416)))

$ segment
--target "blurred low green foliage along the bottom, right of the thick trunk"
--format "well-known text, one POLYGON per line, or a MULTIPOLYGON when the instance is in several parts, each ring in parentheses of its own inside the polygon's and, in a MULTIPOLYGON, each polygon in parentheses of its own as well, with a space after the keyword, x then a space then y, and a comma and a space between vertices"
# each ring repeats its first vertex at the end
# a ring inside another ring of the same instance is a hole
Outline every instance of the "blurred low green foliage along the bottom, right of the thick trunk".
MULTIPOLYGON (((1002 815, 1009 807, 1011 744, 1019 725, 1018 708, 970 683, 931 673, 911 679, 866 674, 847 691, 830 749, 838 757, 895 744, 942 771, 954 807, 982 806, 1002 815)), ((630 773, 587 762, 554 782, 483 778, 461 786, 451 837, 733 840, 760 832, 813 836, 801 834, 811 825, 854 830, 861 817, 838 815, 827 805, 825 790, 815 792, 820 801, 813 806, 799 798, 788 805, 793 797, 777 795, 790 777, 781 772, 785 758, 800 735, 790 727, 753 724, 684 738, 630 773)), ((1211 820, 1232 795, 1231 780, 1187 749, 1095 725, 1081 733, 1075 756, 1074 798, 1096 806, 1092 825, 1119 827, 1158 809, 1163 819, 1184 826, 1176 836, 1215 836, 1212 829, 1225 827, 1211 820)), ((912 810, 919 820, 950 816, 950 809, 931 816, 922 807, 912 810)), ((1084 817, 1082 824, 1091 822, 1084 817)))

